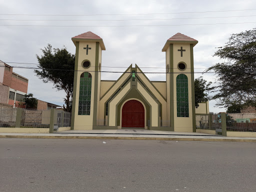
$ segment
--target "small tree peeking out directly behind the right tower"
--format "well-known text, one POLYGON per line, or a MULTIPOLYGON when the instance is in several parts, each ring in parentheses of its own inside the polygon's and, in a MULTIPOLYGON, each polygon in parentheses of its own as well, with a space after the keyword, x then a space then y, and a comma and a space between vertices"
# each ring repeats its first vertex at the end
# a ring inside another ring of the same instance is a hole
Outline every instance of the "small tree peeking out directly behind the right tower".
POLYGON ((206 80, 202 78, 202 76, 194 79, 194 97, 196 108, 199 106, 200 102, 204 102, 209 99, 207 92, 210 89, 210 84, 211 82, 207 83, 206 80))

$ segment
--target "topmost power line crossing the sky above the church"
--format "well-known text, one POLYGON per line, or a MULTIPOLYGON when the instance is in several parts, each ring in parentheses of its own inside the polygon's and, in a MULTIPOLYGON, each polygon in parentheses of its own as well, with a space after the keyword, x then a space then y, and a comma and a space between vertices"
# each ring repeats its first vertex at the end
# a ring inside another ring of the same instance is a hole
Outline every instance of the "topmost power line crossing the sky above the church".
POLYGON ((215 10, 215 11, 193 11, 193 12, 160 12, 160 13, 126 13, 126 14, 0 14, 0 15, 28 15, 28 16, 99 16, 99 15, 152 15, 152 14, 183 14, 183 13, 206 13, 206 12, 230 12, 230 11, 244 11, 256 10, 251 9, 235 9, 235 10, 215 10))

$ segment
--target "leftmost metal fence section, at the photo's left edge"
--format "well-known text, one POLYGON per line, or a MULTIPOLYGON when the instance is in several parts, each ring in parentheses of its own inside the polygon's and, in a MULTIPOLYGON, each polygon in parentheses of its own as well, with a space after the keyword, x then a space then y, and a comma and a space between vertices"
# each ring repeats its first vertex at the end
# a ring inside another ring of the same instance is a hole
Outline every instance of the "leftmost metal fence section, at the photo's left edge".
POLYGON ((0 127, 15 127, 16 108, 0 108, 0 127))

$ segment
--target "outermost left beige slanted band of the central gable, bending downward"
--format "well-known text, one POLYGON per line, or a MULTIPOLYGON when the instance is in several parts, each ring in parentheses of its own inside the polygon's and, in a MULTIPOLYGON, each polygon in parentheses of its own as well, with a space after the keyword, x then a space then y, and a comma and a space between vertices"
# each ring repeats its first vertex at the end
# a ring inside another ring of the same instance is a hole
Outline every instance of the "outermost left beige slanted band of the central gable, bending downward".
POLYGON ((101 96, 99 101, 99 119, 104 119, 105 102, 118 89, 118 87, 121 86, 123 82, 125 82, 125 79, 130 75, 129 72, 131 72, 130 68, 127 69, 127 73, 123 73, 123 75, 121 75, 119 79, 117 79, 117 81, 111 85, 112 87, 107 89, 106 93, 101 96))

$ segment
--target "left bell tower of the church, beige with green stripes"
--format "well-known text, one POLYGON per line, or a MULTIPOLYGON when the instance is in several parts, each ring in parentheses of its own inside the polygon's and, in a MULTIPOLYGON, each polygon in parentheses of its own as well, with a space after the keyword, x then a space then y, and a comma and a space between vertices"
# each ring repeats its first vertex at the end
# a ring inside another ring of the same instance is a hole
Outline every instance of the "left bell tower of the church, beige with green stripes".
POLYGON ((102 38, 91 31, 71 38, 75 50, 71 129, 92 129, 99 114, 102 38))

